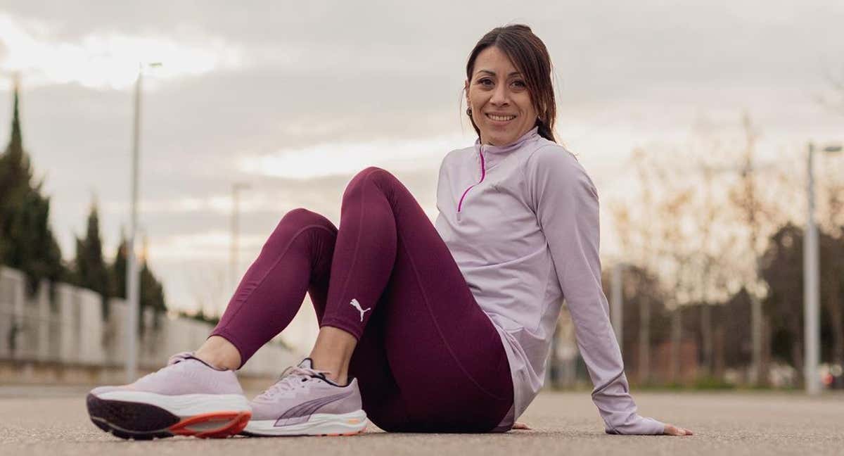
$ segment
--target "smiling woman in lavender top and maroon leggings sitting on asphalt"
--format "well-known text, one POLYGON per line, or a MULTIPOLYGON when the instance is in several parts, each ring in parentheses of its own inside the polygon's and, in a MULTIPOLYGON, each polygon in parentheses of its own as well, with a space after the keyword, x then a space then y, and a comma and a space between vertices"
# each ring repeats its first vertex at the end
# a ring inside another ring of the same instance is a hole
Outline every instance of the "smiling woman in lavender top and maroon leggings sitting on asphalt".
POLYGON ((367 417, 391 432, 506 432, 542 386, 565 297, 605 431, 691 434, 637 415, 628 393, 601 290, 598 195, 555 143, 543 42, 525 25, 496 28, 466 76, 479 139, 442 161, 436 227, 379 168, 349 183, 339 230, 290 211, 208 340, 136 383, 95 388, 92 421, 134 438, 354 434, 367 417), (306 292, 320 323, 311 355, 247 402, 232 370, 306 292))

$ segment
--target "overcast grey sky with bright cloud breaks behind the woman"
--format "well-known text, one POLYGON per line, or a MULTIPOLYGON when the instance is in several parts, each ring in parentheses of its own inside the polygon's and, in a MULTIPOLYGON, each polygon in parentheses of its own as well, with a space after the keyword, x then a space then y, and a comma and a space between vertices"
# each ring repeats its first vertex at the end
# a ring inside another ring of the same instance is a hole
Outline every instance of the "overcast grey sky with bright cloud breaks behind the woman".
POLYGON ((841 1, 27 0, 0 1, 0 141, 19 71, 24 143, 64 255, 97 198, 111 257, 127 225, 138 62, 162 62, 143 90, 149 262, 170 307, 217 311, 235 182, 251 186, 239 272, 287 210, 337 223, 366 166, 393 171, 435 217, 441 158, 474 140, 464 59, 515 22, 549 47, 558 133, 602 195, 605 253, 617 249, 605 203, 626 193, 635 147, 686 144, 701 122, 733 128, 743 111, 769 160, 844 137, 844 117, 815 100, 844 69, 841 1))

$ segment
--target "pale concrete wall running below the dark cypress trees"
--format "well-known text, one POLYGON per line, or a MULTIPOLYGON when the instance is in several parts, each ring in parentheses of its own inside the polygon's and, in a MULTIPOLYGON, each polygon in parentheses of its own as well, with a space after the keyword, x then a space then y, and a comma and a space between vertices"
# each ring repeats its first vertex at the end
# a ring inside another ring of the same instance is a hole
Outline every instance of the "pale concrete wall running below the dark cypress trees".
MULTIPOLYGON (((100 295, 91 290, 57 284, 50 300, 49 284, 41 283, 35 296, 26 296, 20 271, 0 266, 0 361, 14 366, 27 362, 51 366, 122 368, 126 352, 127 304, 112 299, 103 318, 100 295)), ((143 315, 138 339, 142 371, 164 366, 174 353, 195 350, 212 327, 187 318, 143 315)), ((278 375, 298 355, 278 344, 265 345, 239 372, 246 376, 278 375)), ((29 369, 30 367, 27 367, 29 369)), ((20 368, 24 370, 23 367, 20 368)))

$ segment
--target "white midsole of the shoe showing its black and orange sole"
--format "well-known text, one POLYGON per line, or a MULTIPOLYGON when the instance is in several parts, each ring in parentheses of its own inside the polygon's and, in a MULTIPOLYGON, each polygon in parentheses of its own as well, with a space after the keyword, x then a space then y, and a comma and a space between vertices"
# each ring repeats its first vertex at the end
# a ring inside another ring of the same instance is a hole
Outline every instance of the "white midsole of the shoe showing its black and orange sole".
POLYGON ((249 400, 242 394, 178 394, 168 396, 145 391, 110 391, 97 394, 105 400, 120 400, 150 404, 176 416, 192 416, 223 411, 252 411, 249 400))

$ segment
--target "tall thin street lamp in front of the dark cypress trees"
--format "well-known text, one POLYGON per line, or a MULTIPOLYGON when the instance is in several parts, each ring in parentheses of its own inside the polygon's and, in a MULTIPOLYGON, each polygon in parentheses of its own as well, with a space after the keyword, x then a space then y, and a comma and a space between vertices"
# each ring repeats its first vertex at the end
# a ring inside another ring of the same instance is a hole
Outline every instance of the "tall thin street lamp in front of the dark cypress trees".
POLYGON ((128 301, 127 331, 126 331, 126 379, 127 383, 135 380, 138 372, 138 301, 140 294, 140 277, 138 264, 135 261, 135 231, 138 228, 138 168, 140 155, 141 134, 141 86, 143 85, 143 70, 145 68, 160 67, 160 62, 138 64, 138 79, 135 80, 134 123, 132 130, 132 209, 129 223, 129 238, 127 239, 126 258, 126 299, 128 301))

